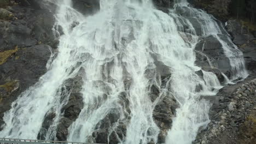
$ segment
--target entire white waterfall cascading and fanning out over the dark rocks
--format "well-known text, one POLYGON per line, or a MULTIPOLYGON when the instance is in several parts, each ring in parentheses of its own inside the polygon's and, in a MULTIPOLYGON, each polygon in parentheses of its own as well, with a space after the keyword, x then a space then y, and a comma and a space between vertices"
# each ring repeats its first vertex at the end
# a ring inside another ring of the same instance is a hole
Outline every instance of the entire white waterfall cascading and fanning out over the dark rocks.
MULTIPOLYGON (((45 116, 53 112, 54 124, 45 139, 54 139, 61 108, 69 97, 68 92, 64 95, 61 92, 63 83, 83 68, 84 107, 68 129, 68 141, 93 141, 92 134, 98 124, 109 113, 115 113, 118 121, 107 133, 115 132, 120 123, 127 125, 126 136, 118 137, 119 143, 156 143, 160 129, 154 122, 153 110, 158 100, 150 100, 148 87, 153 82, 145 76, 145 71, 149 65, 156 69, 154 62, 161 61, 171 68, 168 94, 180 105, 166 143, 187 144, 195 139, 198 129, 210 121, 211 104, 200 100, 200 96, 214 95, 221 86, 213 73, 203 71, 203 77, 195 74, 201 70, 194 64, 193 49, 198 37, 189 20, 182 17, 183 23, 190 26, 192 39, 184 41, 178 31, 182 22, 177 17, 181 16, 174 10, 170 15, 156 10, 149 0, 101 0, 100 11, 87 17, 72 8, 71 0, 48 1, 56 5, 55 25, 61 26, 64 33, 60 37, 59 52, 49 64, 48 72, 5 113, 0 137, 37 139, 45 116), (127 81, 130 86, 126 86, 127 81), (200 91, 196 89, 198 86, 200 91), (122 95, 129 101, 128 106, 122 95)), ((187 7, 205 19, 205 23, 201 23, 202 33, 214 34, 221 41, 236 71, 233 77, 247 75, 243 59, 236 58, 230 46, 218 37, 222 30, 211 16, 188 7, 185 0, 176 1, 176 7, 187 7)), ((240 51, 236 52, 241 55, 240 51)), ((154 81, 161 81, 159 79, 154 75, 154 81)))

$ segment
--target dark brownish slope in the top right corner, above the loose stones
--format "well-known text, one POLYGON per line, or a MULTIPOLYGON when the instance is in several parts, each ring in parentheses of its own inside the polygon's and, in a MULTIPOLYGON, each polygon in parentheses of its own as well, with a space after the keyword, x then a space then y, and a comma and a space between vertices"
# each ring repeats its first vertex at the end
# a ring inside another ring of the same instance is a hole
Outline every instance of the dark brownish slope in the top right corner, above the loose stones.
MULTIPOLYGON (((226 22, 226 30, 230 33, 232 41, 244 54, 247 69, 250 74, 255 74, 256 27, 254 16, 256 11, 251 8, 253 5, 255 7, 255 1, 189 0, 189 2, 196 8, 204 9, 207 13, 210 13, 219 20, 226 22), (238 13, 243 13, 243 15, 240 16, 238 13), (230 17, 236 17, 236 19, 230 17), (250 21, 247 19, 250 19, 250 21)), ((199 54, 200 53, 197 53, 197 56, 200 56, 199 54)), ((205 63, 203 65, 205 65, 205 63)))

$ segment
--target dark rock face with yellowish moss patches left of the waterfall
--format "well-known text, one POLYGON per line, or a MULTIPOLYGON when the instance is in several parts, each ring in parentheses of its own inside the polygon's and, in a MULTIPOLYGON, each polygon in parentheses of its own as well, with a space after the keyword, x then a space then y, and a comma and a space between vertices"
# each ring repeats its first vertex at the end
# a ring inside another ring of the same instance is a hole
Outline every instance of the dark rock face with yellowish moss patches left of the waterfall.
POLYGON ((10 104, 46 72, 51 56, 54 17, 26 2, 5 1, 0 8, 0 125, 10 104))

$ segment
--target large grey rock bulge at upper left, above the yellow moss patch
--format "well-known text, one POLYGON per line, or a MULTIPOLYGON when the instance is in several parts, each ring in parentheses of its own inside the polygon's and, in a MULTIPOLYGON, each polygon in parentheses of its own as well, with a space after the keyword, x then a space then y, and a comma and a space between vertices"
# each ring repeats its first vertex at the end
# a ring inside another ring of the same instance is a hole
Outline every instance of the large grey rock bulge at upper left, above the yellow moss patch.
POLYGON ((11 8, 17 19, 13 21, 0 20, 1 50, 10 47, 32 46, 36 44, 47 44, 54 39, 53 25, 54 17, 48 10, 32 9, 14 5, 11 8))

